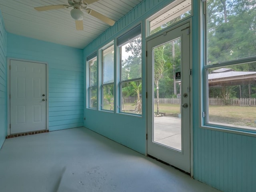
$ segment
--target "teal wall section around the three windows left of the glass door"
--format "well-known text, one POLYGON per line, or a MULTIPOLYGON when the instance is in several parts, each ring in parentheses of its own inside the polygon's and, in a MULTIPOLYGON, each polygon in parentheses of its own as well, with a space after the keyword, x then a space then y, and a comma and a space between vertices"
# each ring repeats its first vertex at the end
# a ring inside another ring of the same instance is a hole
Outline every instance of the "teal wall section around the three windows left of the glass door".
MULTIPOLYGON (((130 28, 142 23, 144 19, 156 12, 161 7, 169 4, 166 0, 142 1, 132 11, 121 18, 114 26, 106 30, 100 37, 84 48, 84 60, 96 50, 114 40, 130 28), (149 3, 150 2, 150 3, 149 3)), ((145 49, 145 28, 142 27, 142 50, 145 49)), ((84 108, 84 126, 102 134, 120 144, 123 144, 142 154, 146 153, 146 56, 142 51, 142 117, 124 115, 112 112, 97 111, 84 108)), ((86 69, 86 67, 85 67, 86 69)), ((84 72, 86 74, 86 70, 84 72)), ((118 86, 118 82, 114 82, 118 86)), ((86 84, 86 76, 84 78, 86 84)), ((84 97, 86 101, 86 97, 84 97)), ((117 100, 117 96, 115 98, 117 100)))

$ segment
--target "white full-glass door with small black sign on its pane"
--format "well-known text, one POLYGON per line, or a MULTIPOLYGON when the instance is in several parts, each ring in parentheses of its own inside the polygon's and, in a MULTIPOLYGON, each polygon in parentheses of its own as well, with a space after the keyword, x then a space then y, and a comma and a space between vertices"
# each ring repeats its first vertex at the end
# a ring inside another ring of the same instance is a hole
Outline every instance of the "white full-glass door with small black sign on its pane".
POLYGON ((189 24, 149 40, 147 53, 147 153, 190 173, 189 24))

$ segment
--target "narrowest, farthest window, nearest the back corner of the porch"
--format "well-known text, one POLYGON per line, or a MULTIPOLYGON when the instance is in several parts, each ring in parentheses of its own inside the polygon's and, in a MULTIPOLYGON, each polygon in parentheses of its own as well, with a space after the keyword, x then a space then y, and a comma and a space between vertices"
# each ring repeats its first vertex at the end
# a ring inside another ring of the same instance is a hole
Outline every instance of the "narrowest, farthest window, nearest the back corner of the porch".
POLYGON ((97 53, 92 54, 87 58, 89 66, 89 108, 97 108, 97 53))

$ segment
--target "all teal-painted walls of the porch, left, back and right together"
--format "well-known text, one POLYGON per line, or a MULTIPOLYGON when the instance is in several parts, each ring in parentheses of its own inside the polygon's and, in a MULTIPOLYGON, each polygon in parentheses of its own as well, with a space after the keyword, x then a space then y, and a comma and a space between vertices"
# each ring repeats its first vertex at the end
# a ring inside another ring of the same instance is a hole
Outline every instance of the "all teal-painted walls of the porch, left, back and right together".
MULTIPOLYGON (((201 68, 200 1, 194 2, 192 17, 193 53, 193 152, 194 178, 225 192, 253 192, 256 188, 256 138, 240 134, 206 130, 200 126, 201 68)), ((82 50, 7 34, 0 16, 0 146, 7 134, 6 114, 6 39, 7 57, 48 62, 49 67, 49 129, 84 126, 124 144, 142 154, 146 153, 146 63, 143 52, 143 114, 142 117, 103 112, 84 108, 83 60, 132 26, 145 22, 148 16, 170 1, 145 0, 104 34, 82 50), (86 120, 83 121, 83 112, 86 120)), ((142 42, 145 50, 146 42, 142 42)), ((86 72, 86 71, 85 71, 86 72)), ((86 93, 86 91, 85 91, 86 93)))

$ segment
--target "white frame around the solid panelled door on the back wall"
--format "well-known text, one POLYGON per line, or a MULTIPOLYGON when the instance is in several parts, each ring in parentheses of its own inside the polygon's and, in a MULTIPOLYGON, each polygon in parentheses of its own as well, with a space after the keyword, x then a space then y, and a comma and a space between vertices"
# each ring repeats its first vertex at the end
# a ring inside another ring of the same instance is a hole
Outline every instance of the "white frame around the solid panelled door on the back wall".
POLYGON ((49 129, 48 127, 48 124, 49 124, 48 63, 41 62, 41 61, 34 61, 34 60, 18 59, 18 58, 7 58, 7 136, 10 135, 10 121, 11 121, 11 117, 10 117, 10 63, 11 63, 11 60, 40 63, 40 64, 46 65, 46 130, 48 130, 49 129))

